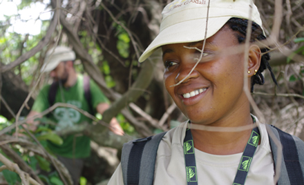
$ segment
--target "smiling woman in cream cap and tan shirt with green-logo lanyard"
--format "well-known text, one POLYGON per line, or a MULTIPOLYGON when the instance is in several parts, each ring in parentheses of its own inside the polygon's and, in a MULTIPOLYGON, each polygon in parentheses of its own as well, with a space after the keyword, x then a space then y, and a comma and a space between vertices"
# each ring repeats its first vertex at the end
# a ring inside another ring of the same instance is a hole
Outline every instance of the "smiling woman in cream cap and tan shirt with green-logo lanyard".
MULTIPOLYGON (((234 129, 258 122, 250 114, 244 86, 252 91, 254 84, 264 84, 261 72, 268 68, 272 74, 272 70, 269 54, 263 55, 267 49, 255 42, 265 39, 256 6, 251 0, 180 0, 169 3, 162 14, 160 34, 140 61, 162 49, 164 85, 189 121, 162 137, 153 184, 275 184, 279 172, 269 126, 258 124, 238 132, 200 129, 234 129), (248 20, 253 23, 245 51, 248 20)), ((273 74, 272 78, 276 83, 273 74)), ((297 138, 296 143, 303 146, 297 138)), ((303 153, 298 151, 298 156, 303 166, 303 153)), ((279 183, 291 183, 281 172, 279 183)), ((122 176, 119 166, 109 184, 124 184, 122 176)), ((302 172, 300 176, 302 181, 302 172)))

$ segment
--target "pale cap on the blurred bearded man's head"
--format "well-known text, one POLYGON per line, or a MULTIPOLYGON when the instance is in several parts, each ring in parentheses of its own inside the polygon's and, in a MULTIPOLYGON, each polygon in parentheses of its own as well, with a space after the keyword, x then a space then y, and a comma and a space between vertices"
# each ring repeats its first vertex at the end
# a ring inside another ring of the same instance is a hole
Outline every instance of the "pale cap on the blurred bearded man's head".
POLYGON ((46 52, 46 58, 44 59, 41 72, 50 72, 54 70, 61 61, 74 61, 75 58, 75 52, 66 46, 51 48, 46 52))

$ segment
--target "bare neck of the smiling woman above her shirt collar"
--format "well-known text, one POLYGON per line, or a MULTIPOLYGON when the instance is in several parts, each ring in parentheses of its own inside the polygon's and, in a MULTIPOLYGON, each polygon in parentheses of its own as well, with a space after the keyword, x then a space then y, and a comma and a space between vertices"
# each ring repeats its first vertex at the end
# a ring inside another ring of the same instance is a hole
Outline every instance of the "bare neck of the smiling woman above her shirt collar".
MULTIPOLYGON (((240 121, 240 124, 231 122, 222 124, 222 126, 236 127, 253 124, 253 120, 250 115, 243 119, 240 119, 239 117, 238 121, 240 121)), ((251 135, 251 129, 240 132, 213 132, 191 129, 191 134, 193 136, 194 147, 196 149, 214 155, 231 155, 243 152, 251 135)))

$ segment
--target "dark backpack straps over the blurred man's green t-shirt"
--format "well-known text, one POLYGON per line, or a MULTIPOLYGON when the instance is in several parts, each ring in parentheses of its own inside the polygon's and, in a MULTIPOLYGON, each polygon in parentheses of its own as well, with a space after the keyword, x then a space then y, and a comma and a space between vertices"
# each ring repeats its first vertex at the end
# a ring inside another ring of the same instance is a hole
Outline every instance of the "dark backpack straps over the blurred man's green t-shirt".
MULTIPOLYGON (((54 81, 50 85, 50 90, 48 90, 48 104, 50 106, 53 106, 55 103, 58 86, 59 86, 58 81, 54 81)), ((86 98, 86 101, 88 102, 88 108, 90 110, 90 113, 95 114, 95 112, 93 110, 92 101, 91 101, 90 77, 88 77, 88 76, 84 76, 84 97, 86 98)))

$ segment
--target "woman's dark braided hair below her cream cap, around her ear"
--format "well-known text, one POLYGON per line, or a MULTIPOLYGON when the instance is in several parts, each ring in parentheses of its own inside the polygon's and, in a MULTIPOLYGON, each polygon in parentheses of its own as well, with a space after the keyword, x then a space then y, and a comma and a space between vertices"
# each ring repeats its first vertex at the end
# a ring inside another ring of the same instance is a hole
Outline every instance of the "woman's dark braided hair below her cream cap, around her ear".
MULTIPOLYGON (((245 43, 248 20, 233 17, 229 19, 227 24, 230 26, 232 30, 237 31, 239 33, 237 36, 238 42, 245 43)), ((266 39, 266 37, 263 35, 262 28, 260 28, 260 26, 258 26, 257 23, 252 22, 250 42, 254 42, 256 41, 256 39, 260 41, 266 39)), ((268 50, 269 50, 268 48, 261 48, 260 52, 263 53, 263 52, 267 52, 268 50)), ((254 92, 254 84, 263 85, 265 83, 265 79, 262 72, 266 68, 268 68, 270 75, 272 75, 272 80, 274 81, 274 84, 278 85, 276 82, 276 77, 274 77, 274 72, 272 72, 272 68, 269 65, 268 62, 269 59, 270 59, 270 55, 268 52, 262 55, 262 58, 260 60, 260 68, 258 68, 258 72, 256 72, 256 75, 253 75, 251 77, 251 88, 250 88, 251 93, 254 92)))

